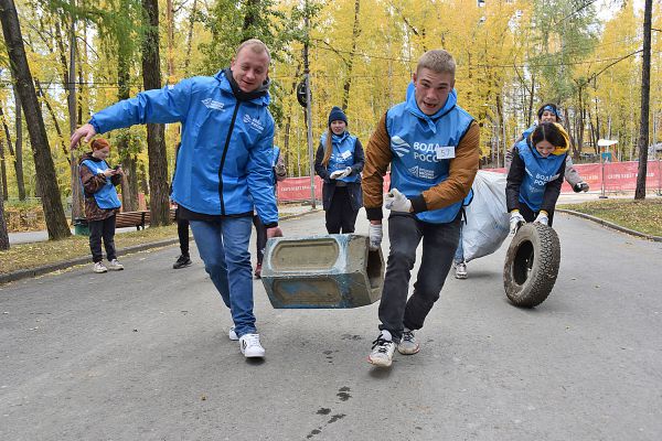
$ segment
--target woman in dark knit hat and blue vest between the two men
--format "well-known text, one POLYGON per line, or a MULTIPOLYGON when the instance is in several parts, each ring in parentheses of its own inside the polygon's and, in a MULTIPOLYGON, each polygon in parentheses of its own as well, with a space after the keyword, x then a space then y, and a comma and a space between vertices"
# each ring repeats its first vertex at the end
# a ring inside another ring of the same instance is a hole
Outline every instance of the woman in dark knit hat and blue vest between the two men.
POLYGON ((314 157, 314 171, 324 181, 322 202, 329 234, 354 233, 363 206, 361 171, 365 154, 361 141, 346 129, 348 117, 340 107, 333 107, 329 131, 322 135, 314 157))

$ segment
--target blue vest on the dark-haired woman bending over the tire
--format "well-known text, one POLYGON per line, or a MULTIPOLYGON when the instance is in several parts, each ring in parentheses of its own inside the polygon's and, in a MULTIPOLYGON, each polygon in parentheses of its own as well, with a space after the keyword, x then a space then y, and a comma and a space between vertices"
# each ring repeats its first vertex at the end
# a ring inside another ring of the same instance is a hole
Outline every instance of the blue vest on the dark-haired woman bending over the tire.
POLYGON ((548 182, 559 178, 558 170, 565 166, 566 153, 549 154, 544 158, 526 140, 517 142, 517 153, 524 161, 524 179, 520 185, 519 201, 534 212, 541 209, 545 187, 548 182))

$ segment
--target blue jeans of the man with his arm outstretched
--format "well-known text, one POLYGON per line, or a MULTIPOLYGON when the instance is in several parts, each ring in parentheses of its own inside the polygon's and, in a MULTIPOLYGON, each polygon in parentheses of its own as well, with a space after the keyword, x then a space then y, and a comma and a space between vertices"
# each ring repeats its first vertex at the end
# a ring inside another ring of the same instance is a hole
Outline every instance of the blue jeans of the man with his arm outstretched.
POLYGON ((248 252, 252 224, 250 216, 226 217, 218 222, 191 220, 204 269, 229 308, 239 337, 257 332, 248 252))

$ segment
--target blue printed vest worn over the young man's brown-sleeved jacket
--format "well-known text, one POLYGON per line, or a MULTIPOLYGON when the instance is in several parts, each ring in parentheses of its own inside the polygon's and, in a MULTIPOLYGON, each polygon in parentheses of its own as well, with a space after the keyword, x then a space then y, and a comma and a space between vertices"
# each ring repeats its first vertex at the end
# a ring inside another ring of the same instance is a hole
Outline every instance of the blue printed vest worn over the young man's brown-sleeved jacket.
MULTIPOLYGON (((433 116, 418 109, 414 93, 407 94, 405 103, 386 112, 386 130, 393 153, 391 189, 397 189, 410 198, 446 181, 455 149, 471 121, 473 117, 457 106, 455 89, 446 105, 433 116)), ((417 213, 416 217, 423 222, 446 224, 456 218, 461 206, 462 201, 459 201, 444 208, 417 213)))

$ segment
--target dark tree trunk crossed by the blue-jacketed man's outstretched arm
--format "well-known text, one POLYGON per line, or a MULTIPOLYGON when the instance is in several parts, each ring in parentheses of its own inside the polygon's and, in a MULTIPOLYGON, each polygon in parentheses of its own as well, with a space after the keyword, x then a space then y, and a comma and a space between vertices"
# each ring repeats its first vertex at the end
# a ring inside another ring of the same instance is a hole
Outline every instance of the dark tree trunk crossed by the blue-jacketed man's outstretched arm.
MULTIPOLYGON (((159 2, 142 0, 145 13, 145 41, 142 44, 142 84, 145 89, 161 87, 159 66, 159 2)), ((149 158, 149 189, 151 225, 170 223, 170 189, 163 125, 147 125, 147 153, 149 158)))

